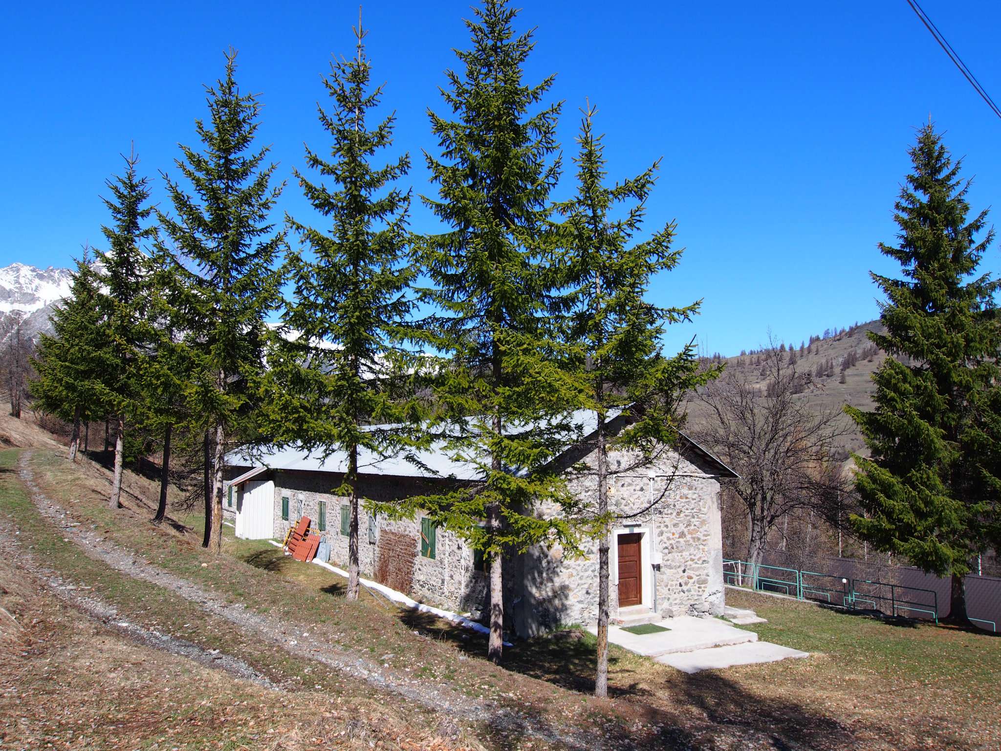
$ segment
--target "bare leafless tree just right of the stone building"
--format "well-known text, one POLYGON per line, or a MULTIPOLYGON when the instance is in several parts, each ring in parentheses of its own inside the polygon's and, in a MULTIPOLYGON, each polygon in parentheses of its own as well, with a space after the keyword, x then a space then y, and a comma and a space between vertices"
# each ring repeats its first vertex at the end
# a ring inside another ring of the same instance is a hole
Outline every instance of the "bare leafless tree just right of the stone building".
POLYGON ((733 493, 747 510, 747 560, 755 571, 769 533, 786 515, 810 509, 833 518, 834 499, 844 491, 833 455, 849 433, 840 412, 809 403, 820 387, 777 346, 765 350, 762 364, 764 388, 752 373, 733 368, 700 390, 695 399, 708 415, 693 431, 741 476, 733 493))

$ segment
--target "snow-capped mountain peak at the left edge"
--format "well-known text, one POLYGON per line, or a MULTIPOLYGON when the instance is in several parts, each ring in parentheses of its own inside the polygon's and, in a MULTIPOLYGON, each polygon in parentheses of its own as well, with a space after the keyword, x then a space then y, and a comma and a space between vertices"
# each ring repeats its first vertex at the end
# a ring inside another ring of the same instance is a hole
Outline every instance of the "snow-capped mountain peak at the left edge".
POLYGON ((72 283, 68 268, 36 268, 25 263, 0 268, 0 341, 18 324, 27 338, 50 331, 52 306, 69 294, 72 283))

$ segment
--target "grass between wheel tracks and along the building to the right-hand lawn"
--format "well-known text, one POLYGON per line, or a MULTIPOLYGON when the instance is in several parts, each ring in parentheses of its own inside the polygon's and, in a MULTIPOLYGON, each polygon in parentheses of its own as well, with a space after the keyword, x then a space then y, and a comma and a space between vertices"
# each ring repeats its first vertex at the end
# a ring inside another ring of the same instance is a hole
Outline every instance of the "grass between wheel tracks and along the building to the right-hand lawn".
MULTIPOLYGON (((128 499, 128 509, 107 512, 103 471, 81 471, 42 451, 35 452, 32 466, 43 490, 73 516, 158 566, 248 607, 278 612, 310 630, 319 629, 417 679, 525 706, 557 723, 592 727, 621 740, 632 737, 638 745, 650 747, 689 743, 752 748, 754 738, 773 736, 809 748, 1001 745, 994 708, 1001 639, 933 626, 905 629, 812 605, 735 593, 730 596, 732 604, 756 608, 769 619, 769 624, 756 629, 763 639, 819 654, 808 660, 687 676, 613 649, 610 684, 616 698, 597 702, 576 693, 592 687, 595 645, 589 635, 569 630, 520 643, 507 652, 507 670, 498 669, 481 659, 482 639, 369 597, 358 605, 347 603, 340 596, 343 583, 338 577, 290 561, 266 543, 227 537, 225 555, 216 560, 202 553, 193 531, 149 525, 148 507, 134 498, 128 499), (207 565, 202 567, 203 563, 207 565)), ((31 517, 29 511, 25 518, 31 517)), ((200 523, 194 517, 179 521, 196 529, 200 523)), ((43 538, 45 533, 35 529, 32 535, 43 538)), ((208 623, 189 635, 184 624, 197 621, 180 610, 190 608, 188 604, 131 581, 113 578, 104 583, 93 562, 81 561, 68 544, 49 537, 47 557, 77 581, 96 581, 102 595, 115 600, 130 617, 152 619, 171 633, 224 648, 268 675, 289 676, 293 683, 297 676, 299 685, 315 681, 322 684, 323 695, 357 700, 357 687, 343 685, 336 675, 327 673, 317 680, 315 673, 305 672, 309 666, 286 664, 281 654, 262 649, 223 625, 208 623), (118 588, 135 587, 118 593, 118 588)), ((514 739, 502 744, 517 745, 514 739)))

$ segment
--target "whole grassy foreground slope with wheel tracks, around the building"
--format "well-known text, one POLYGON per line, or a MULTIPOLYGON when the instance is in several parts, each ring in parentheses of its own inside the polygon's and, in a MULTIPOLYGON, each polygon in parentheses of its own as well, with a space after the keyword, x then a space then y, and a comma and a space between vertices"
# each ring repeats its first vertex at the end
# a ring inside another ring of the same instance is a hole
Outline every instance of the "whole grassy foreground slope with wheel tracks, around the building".
POLYGON ((0 449, 0 747, 764 749, 997 747, 1001 642, 728 592, 802 660, 690 675, 613 646, 610 699, 576 627, 485 640, 227 528, 218 557, 155 487, 71 464, 29 427, 0 449), (56 680, 57 678, 58 680, 56 680), (820 688, 818 688, 820 687, 820 688), (864 687, 865 711, 859 690, 864 687))

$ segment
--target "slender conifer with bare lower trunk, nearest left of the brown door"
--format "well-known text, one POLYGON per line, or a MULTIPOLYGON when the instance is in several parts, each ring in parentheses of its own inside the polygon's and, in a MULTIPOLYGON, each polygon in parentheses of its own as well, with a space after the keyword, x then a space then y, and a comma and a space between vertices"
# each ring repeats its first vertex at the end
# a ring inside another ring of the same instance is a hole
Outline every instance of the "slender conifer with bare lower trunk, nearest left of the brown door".
POLYGON ((584 110, 577 139, 577 195, 558 204, 566 220, 558 230, 565 291, 557 310, 566 316, 576 373, 586 384, 598 417, 594 466, 583 472, 596 479, 598 490, 594 510, 599 540, 595 695, 604 697, 609 671, 609 549, 616 517, 609 506, 610 478, 617 472, 635 473, 655 461, 659 449, 674 444, 683 422, 682 398, 718 369, 700 371, 692 343, 674 357, 663 355, 661 337, 666 326, 690 320, 701 301, 659 307, 645 298, 651 277, 674 268, 682 253, 672 247, 674 223, 631 246, 643 223, 659 161, 636 177, 607 185, 604 136, 594 131, 596 111, 590 104, 584 110), (618 435, 608 427, 613 411, 629 420, 618 435), (612 470, 609 451, 615 449, 633 450, 636 462, 624 470, 612 470))

